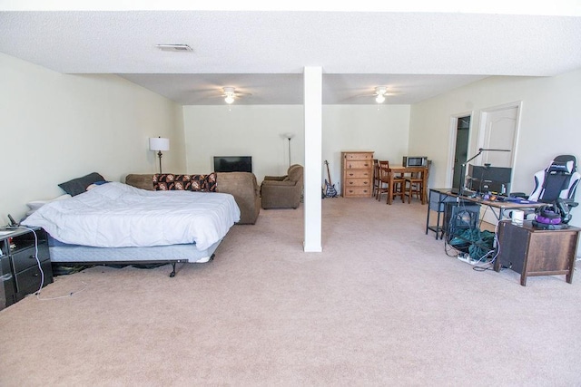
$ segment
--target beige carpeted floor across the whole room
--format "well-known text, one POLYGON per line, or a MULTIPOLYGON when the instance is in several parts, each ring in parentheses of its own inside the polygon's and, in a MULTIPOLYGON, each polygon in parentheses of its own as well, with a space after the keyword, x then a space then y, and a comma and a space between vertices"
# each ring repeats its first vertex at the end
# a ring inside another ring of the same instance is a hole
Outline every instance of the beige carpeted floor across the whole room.
POLYGON ((579 386, 581 278, 477 271, 426 206, 262 210, 207 264, 94 267, 0 312, 0 385, 579 386))

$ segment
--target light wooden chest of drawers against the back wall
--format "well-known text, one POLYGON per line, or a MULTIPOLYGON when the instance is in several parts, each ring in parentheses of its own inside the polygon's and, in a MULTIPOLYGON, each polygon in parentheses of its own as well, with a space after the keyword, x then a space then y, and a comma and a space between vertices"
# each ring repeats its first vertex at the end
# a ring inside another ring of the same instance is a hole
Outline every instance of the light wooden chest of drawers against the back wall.
POLYGON ((341 191, 343 198, 370 198, 373 182, 373 152, 341 152, 341 191))

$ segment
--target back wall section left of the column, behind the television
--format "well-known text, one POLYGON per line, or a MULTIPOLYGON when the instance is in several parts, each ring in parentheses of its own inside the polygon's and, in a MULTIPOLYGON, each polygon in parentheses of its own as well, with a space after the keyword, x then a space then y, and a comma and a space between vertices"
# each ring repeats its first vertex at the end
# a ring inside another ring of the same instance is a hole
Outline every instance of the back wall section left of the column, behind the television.
POLYGON ((214 156, 251 156, 259 182, 264 175, 284 175, 291 164, 304 164, 301 105, 184 106, 187 172, 209 173, 214 156))

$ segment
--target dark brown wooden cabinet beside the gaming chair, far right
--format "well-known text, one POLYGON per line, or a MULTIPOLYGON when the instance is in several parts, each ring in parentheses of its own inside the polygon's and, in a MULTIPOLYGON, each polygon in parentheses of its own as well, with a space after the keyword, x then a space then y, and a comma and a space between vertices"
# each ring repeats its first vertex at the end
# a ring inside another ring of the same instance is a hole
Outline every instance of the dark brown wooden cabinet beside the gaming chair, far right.
POLYGON ((527 276, 565 275, 573 281, 576 248, 581 228, 544 230, 532 226, 530 220, 522 226, 510 220, 498 222, 498 256, 494 269, 508 267, 520 273, 520 285, 527 285, 527 276))

